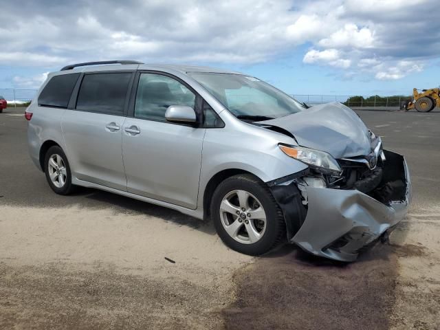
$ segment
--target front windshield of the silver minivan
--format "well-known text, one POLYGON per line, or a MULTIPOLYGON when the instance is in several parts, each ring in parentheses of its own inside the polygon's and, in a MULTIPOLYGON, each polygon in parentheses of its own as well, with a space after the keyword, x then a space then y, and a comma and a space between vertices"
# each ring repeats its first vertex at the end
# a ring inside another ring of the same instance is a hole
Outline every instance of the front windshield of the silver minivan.
POLYGON ((241 74, 188 72, 237 118, 279 118, 306 109, 294 98, 263 81, 241 74))

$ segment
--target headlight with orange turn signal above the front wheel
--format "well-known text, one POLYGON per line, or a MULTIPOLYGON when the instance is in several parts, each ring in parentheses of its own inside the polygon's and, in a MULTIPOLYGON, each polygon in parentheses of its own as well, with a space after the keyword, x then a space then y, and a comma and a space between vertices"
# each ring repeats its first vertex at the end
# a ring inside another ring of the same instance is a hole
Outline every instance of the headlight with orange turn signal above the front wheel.
POLYGON ((310 165, 312 168, 323 169, 327 172, 340 173, 341 168, 336 160, 324 151, 304 148, 303 146, 288 146, 278 144, 283 153, 310 165))

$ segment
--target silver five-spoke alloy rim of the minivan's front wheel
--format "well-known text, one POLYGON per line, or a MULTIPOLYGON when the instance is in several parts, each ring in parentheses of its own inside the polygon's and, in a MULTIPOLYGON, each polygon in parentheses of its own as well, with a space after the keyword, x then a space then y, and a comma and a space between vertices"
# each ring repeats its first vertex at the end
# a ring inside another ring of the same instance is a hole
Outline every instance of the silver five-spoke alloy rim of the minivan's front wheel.
POLYGON ((232 190, 220 203, 220 219, 225 231, 235 241, 252 244, 266 230, 266 213, 254 195, 245 190, 232 190))

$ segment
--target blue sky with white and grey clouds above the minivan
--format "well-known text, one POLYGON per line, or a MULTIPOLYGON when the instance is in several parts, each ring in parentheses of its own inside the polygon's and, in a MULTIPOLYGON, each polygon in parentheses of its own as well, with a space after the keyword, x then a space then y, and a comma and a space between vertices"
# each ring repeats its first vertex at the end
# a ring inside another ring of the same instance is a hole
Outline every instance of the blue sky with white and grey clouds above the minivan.
POLYGON ((131 59, 232 69, 289 94, 410 95, 440 84, 438 13, 439 0, 3 0, 0 89, 131 59))

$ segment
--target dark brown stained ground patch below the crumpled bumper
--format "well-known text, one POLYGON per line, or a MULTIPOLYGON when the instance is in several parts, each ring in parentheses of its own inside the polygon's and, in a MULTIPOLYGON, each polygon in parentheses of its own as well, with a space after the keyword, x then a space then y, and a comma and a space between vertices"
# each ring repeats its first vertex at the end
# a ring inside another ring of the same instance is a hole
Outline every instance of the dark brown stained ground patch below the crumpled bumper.
POLYGON ((388 329, 397 258, 380 245, 355 263, 335 263, 285 247, 234 276, 227 329, 388 329))

